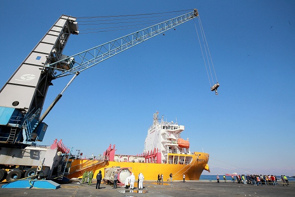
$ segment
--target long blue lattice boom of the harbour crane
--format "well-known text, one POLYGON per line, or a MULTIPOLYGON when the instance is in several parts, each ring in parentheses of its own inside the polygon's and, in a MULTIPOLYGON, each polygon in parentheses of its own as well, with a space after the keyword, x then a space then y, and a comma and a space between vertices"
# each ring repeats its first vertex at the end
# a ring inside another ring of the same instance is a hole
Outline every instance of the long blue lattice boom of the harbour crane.
POLYGON ((44 68, 55 68, 56 70, 59 70, 60 73, 56 74, 54 78, 60 78, 75 74, 77 72, 82 72, 114 55, 129 49, 130 47, 136 46, 148 40, 149 38, 152 38, 177 25, 187 22, 198 15, 198 10, 194 9, 192 12, 177 16, 140 31, 136 31, 107 43, 98 45, 52 64, 45 65, 44 68), (69 66, 63 68, 57 66, 61 62, 68 62, 69 66), (74 66, 74 64, 76 64, 76 66, 74 66))

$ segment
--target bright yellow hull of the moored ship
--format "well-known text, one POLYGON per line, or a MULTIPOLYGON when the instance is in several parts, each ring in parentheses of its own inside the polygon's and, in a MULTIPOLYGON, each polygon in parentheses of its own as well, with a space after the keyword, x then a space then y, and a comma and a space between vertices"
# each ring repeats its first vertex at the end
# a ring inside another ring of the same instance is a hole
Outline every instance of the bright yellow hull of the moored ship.
POLYGON ((182 164, 181 162, 171 162, 171 164, 155 164, 155 163, 137 163, 137 162, 117 162, 117 161, 95 161, 76 159, 72 161, 72 168, 68 178, 82 178, 82 174, 87 171, 93 171, 94 178, 101 170, 104 177, 104 169, 110 167, 132 168, 132 172, 136 175, 143 173, 145 180, 157 180, 158 174, 163 174, 163 181, 170 180, 169 174, 172 173, 172 180, 182 180, 183 174, 186 180, 199 180, 203 170, 209 171, 208 153, 194 152, 193 155, 168 154, 173 158, 184 156, 192 157, 190 164, 182 164))

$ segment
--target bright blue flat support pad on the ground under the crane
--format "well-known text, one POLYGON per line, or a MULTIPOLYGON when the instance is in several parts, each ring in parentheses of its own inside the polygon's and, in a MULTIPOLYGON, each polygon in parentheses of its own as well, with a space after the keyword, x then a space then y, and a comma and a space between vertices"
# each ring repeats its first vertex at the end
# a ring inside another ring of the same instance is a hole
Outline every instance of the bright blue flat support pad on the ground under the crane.
POLYGON ((61 187, 60 184, 57 184, 51 180, 18 180, 5 185, 2 185, 1 188, 23 188, 23 189, 52 189, 56 190, 61 187))

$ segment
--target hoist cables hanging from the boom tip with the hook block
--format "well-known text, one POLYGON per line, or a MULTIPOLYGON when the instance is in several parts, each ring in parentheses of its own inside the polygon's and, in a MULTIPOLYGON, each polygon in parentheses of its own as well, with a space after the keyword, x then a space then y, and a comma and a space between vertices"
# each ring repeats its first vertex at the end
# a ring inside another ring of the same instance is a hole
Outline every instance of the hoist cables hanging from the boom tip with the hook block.
POLYGON ((215 72, 214 64, 213 64, 213 61, 212 61, 211 53, 210 53, 210 50, 209 50, 208 42, 207 42, 207 39, 206 39, 206 36, 205 36, 205 32, 204 32, 204 29, 203 29, 203 25, 202 25, 202 22, 201 22, 200 15, 198 16, 198 21, 199 21, 200 31, 201 31, 201 35, 202 35, 202 41, 204 43, 204 51, 206 53, 206 59, 207 59, 207 62, 208 62, 208 68, 207 68, 207 63, 206 63, 206 60, 205 60, 205 55, 204 55, 204 52, 203 52, 203 47, 202 47, 202 44, 201 44, 201 40, 200 40, 198 28, 196 26, 196 22, 195 22, 195 19, 194 19, 195 28, 196 28, 196 32, 197 32, 197 36, 198 36, 200 48, 201 48, 201 51, 202 51, 202 56, 203 56, 204 64, 205 64, 205 67, 206 67, 206 72, 207 72, 209 84, 210 84, 210 87, 211 87, 211 91, 215 91, 215 94, 218 95, 217 88, 219 87, 219 83, 218 83, 217 75, 216 75, 216 72, 215 72), (209 60, 209 57, 208 56, 210 57, 210 60, 209 60), (210 63, 210 61, 211 61, 211 63, 210 63), (212 66, 210 66, 210 64, 212 66), (212 67, 212 69, 211 69, 211 67, 212 67), (210 79, 210 76, 209 76, 208 69, 210 71, 211 79, 210 79), (213 70, 214 75, 215 75, 215 78, 216 78, 216 84, 214 83, 214 78, 213 78, 213 75, 212 75, 212 70, 213 70), (212 80, 213 85, 211 84, 211 80, 212 80))

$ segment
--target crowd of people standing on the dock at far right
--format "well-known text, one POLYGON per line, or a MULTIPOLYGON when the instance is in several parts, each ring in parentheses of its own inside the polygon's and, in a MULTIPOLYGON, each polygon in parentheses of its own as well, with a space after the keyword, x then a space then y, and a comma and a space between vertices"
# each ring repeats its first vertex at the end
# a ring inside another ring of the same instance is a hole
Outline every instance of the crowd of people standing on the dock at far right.
MULTIPOLYGON (((217 182, 219 183, 219 176, 217 175, 217 182)), ((238 184, 252 184, 255 186, 258 185, 270 185, 270 186, 277 186, 279 185, 278 183, 278 179, 276 176, 273 175, 236 175, 236 181, 238 184)), ((235 182, 235 178, 233 175, 231 175, 231 180, 234 183, 235 182)), ((226 177, 225 175, 223 175, 223 180, 226 183, 226 177)), ((288 178, 284 175, 281 175, 281 180, 283 183, 283 186, 288 186, 289 185, 289 181, 288 178)))

